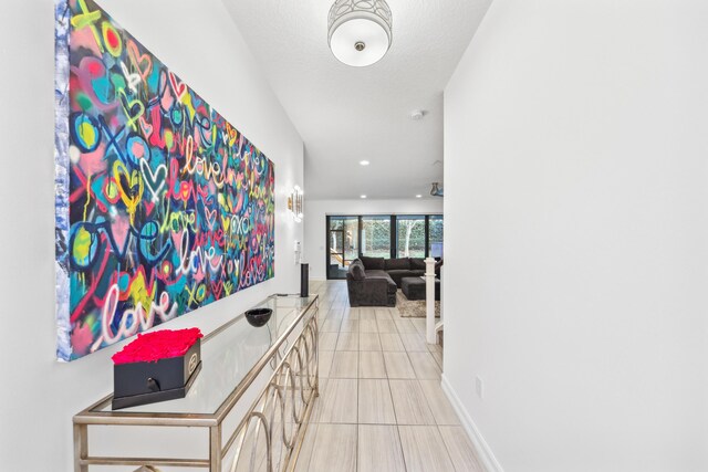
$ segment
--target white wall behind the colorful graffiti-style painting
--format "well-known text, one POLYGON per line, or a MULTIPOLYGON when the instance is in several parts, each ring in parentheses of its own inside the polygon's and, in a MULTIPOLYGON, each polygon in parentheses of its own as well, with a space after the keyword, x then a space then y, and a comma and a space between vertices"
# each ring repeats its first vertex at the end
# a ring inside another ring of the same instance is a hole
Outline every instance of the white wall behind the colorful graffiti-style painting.
MULTIPOLYGON (((303 144, 219 0, 103 0, 103 7, 275 162, 275 277, 169 324, 209 332, 270 293, 299 286, 285 189, 303 181, 303 144)), ((107 348, 54 360, 52 0, 0 15, 0 469, 72 470, 71 418, 113 388, 107 348)), ((179 444, 177 444, 179 447, 179 444)))

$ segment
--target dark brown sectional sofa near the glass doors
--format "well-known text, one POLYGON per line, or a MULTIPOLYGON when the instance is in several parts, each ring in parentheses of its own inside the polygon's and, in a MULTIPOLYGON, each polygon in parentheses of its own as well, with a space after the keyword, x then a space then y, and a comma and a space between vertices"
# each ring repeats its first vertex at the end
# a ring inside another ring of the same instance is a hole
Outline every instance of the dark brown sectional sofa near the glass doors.
POLYGON ((396 306, 396 291, 405 277, 425 274, 417 258, 384 259, 362 255, 346 274, 351 306, 396 306))

